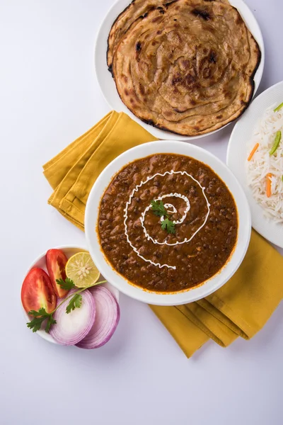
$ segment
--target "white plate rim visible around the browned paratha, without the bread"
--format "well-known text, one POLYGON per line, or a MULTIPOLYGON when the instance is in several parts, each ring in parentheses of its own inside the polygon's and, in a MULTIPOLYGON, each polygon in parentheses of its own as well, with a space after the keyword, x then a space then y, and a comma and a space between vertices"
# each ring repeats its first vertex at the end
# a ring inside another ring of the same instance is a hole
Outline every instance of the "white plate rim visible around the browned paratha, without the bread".
MULTIPOLYGON (((163 130, 159 130, 158 128, 152 127, 151 125, 145 124, 143 121, 139 120, 129 109, 122 103, 120 96, 117 94, 117 89, 115 86, 115 82, 112 79, 110 72, 108 71, 107 63, 106 63, 106 52, 108 47, 108 35, 110 33, 110 29, 112 27, 112 23, 115 21, 117 16, 129 5, 130 0, 118 0, 108 11, 107 15, 103 23, 100 26, 100 30, 98 31, 98 35, 96 38, 96 48, 94 54, 94 62, 96 69, 96 77, 98 79, 98 84, 100 85, 100 89, 103 93, 105 101, 108 102, 110 108, 114 109, 117 112, 125 112, 127 113, 133 120, 137 121, 139 125, 144 127, 151 135, 154 135, 158 139, 161 140, 193 140, 199 139, 200 137, 205 137, 211 135, 212 133, 221 130, 214 130, 214 132, 209 132, 206 135, 200 136, 180 136, 175 135, 172 132, 167 132, 163 130)), ((260 80, 262 77, 263 67, 265 64, 265 46, 262 39, 262 33, 260 31, 260 27, 258 26, 258 22, 253 16, 253 13, 250 11, 250 8, 243 2, 243 0, 231 0, 232 6, 235 6, 238 11, 241 13, 243 20, 246 22, 246 25, 250 29, 250 32, 257 40, 258 45, 261 50, 261 62, 258 67, 258 71, 255 74, 255 92, 258 90, 258 86, 260 85, 260 80)), ((254 92, 254 94, 255 94, 254 92)))

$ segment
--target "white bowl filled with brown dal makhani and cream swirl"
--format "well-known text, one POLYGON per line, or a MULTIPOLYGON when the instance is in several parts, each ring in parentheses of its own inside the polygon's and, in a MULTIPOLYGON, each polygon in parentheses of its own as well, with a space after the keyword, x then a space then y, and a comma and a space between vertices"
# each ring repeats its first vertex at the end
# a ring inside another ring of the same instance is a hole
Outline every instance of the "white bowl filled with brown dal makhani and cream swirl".
POLYGON ((93 185, 85 217, 100 273, 129 297, 180 305, 213 293, 248 249, 250 210, 228 167, 185 142, 139 145, 93 185))

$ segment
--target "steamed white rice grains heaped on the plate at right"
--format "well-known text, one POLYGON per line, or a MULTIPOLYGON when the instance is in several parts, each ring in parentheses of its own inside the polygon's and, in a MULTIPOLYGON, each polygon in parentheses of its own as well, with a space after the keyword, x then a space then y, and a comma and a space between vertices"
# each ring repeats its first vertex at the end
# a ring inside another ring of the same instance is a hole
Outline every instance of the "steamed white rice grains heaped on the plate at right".
POLYGON ((259 143, 259 147, 253 158, 246 161, 246 170, 248 185, 252 188, 255 200, 265 209, 265 215, 283 223, 283 108, 274 112, 277 106, 267 109, 255 127, 253 137, 248 142, 247 159, 256 143, 259 143), (282 132, 282 140, 275 154, 270 155, 279 130, 282 132), (266 195, 268 173, 272 174, 270 198, 266 195))

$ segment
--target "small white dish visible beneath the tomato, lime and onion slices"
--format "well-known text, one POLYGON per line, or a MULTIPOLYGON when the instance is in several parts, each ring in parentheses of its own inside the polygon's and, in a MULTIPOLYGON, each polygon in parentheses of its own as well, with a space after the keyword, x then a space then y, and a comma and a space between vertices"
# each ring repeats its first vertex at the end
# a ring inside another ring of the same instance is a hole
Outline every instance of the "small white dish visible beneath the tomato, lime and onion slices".
MULTIPOLYGON (((86 248, 81 248, 79 246, 70 246, 70 245, 55 246, 55 249, 62 249, 62 251, 67 256, 68 259, 72 255, 76 254, 77 252, 87 251, 86 248)), ((43 254, 38 256, 37 259, 35 259, 35 261, 33 261, 31 266, 26 271, 25 276, 27 276, 28 272, 34 267, 43 268, 43 270, 46 271, 46 273, 48 273, 47 267, 46 267, 46 262, 45 262, 45 255, 46 255, 46 252, 44 252, 43 254)), ((25 279, 25 276, 23 277, 23 280, 25 279)), ((101 278, 101 280, 104 280, 101 276, 100 276, 100 278, 101 278)), ((113 287, 108 282, 104 283, 102 286, 105 286, 105 288, 108 288, 110 290, 110 292, 115 296, 117 302, 119 301, 119 291, 117 290, 117 288, 113 287)), ((22 306, 22 308, 23 308, 23 306, 22 306)), ((25 310, 23 310, 23 314, 24 314, 24 317, 25 317, 25 322, 30 322, 31 318, 28 315, 28 313, 25 312, 25 310)), ((31 332, 31 330, 30 330, 30 332, 31 332)), ((50 334, 47 334, 47 332, 45 332, 45 330, 40 329, 40 331, 37 331, 36 334, 41 336, 46 341, 52 342, 53 344, 58 344, 56 341, 54 341, 54 339, 52 338, 52 336, 50 334)))

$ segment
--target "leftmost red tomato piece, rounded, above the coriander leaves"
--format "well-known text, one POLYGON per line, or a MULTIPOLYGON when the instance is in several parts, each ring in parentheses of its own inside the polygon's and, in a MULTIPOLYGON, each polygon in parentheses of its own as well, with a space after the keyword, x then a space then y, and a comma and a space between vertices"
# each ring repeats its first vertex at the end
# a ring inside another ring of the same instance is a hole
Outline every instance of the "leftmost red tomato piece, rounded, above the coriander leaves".
POLYGON ((25 277, 22 286, 21 299, 23 308, 28 313, 30 310, 39 310, 44 307, 51 313, 57 304, 57 297, 52 288, 50 277, 42 268, 32 268, 25 277))

